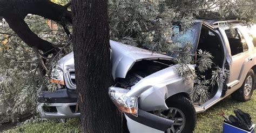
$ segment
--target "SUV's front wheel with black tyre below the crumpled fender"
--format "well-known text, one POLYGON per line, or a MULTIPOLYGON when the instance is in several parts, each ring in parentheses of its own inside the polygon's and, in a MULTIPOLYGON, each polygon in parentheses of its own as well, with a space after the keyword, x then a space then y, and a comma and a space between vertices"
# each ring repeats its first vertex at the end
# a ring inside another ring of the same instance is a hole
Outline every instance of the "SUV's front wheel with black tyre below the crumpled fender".
POLYGON ((196 125, 196 110, 191 101, 180 95, 167 99, 169 109, 157 110, 154 114, 173 120, 171 128, 165 132, 193 132, 196 125))

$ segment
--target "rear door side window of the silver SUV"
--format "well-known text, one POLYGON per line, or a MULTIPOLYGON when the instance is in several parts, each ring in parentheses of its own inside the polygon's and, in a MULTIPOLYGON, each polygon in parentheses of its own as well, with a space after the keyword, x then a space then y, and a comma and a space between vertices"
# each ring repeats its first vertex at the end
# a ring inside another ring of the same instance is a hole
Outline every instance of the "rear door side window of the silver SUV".
POLYGON ((248 51, 248 46, 244 36, 241 34, 239 29, 226 29, 228 42, 230 42, 231 55, 236 55, 245 51, 248 51))

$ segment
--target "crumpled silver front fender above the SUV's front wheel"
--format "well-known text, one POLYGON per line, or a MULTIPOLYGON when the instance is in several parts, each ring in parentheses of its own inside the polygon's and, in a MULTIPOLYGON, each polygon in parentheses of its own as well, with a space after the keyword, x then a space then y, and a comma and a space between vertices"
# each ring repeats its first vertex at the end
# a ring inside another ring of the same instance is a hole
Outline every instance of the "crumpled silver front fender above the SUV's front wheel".
POLYGON ((165 100, 177 93, 189 93, 193 81, 185 82, 172 65, 140 80, 126 94, 127 97, 139 97, 139 108, 145 111, 168 109, 165 100))

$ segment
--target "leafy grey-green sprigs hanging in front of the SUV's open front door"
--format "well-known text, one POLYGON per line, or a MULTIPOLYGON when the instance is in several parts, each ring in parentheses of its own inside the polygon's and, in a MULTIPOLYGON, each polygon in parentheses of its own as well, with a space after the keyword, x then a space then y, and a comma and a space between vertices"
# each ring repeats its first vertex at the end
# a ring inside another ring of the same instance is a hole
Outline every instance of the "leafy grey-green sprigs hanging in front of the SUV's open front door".
MULTIPOLYGON (((186 49, 186 47, 185 45, 181 49, 186 49)), ((211 69, 214 63, 212 62, 213 56, 209 52, 199 49, 197 53, 198 60, 193 61, 192 57, 194 56, 191 56, 189 51, 191 50, 182 52, 183 54, 178 53, 178 56, 174 58, 176 63, 179 64, 175 69, 185 82, 194 83, 194 87, 190 92, 191 101, 203 104, 208 99, 209 87, 213 87, 216 83, 218 86, 225 83, 228 79, 229 71, 223 70, 218 66, 215 66, 215 69, 211 69), (197 64, 197 66, 195 67, 195 65, 191 64, 197 64), (195 71, 195 68, 197 71, 195 71), (204 75, 204 72, 208 69, 212 70, 211 79, 206 79, 204 75)))

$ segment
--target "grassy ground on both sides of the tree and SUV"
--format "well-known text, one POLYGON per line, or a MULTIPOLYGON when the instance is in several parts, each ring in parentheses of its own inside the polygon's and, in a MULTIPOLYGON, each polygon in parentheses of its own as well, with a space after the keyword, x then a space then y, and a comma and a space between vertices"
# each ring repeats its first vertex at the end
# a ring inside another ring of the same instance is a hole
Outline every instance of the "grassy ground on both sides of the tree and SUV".
MULTIPOLYGON (((226 115, 234 115, 233 110, 236 108, 242 109, 251 115, 253 123, 256 123, 256 92, 253 94, 252 99, 247 102, 237 102, 231 99, 231 97, 225 98, 218 104, 208 109, 205 113, 197 115, 197 125, 194 130, 195 133, 201 132, 221 132, 223 128, 222 116, 218 116, 221 109, 224 110, 226 115)), ((7 130, 5 132, 81 132, 79 120, 72 119, 66 123, 58 121, 46 121, 41 123, 28 123, 23 124, 14 129, 7 130)))

